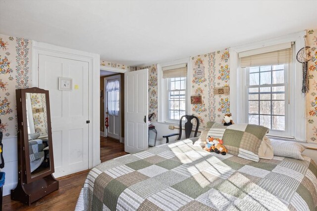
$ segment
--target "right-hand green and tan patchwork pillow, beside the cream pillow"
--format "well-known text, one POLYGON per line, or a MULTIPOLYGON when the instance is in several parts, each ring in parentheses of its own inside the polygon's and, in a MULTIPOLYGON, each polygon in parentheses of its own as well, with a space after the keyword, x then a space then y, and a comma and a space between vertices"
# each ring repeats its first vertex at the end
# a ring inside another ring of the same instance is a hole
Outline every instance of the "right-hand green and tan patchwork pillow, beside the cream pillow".
POLYGON ((267 127, 258 125, 230 125, 223 133, 223 145, 231 155, 259 162, 259 148, 267 132, 267 127))

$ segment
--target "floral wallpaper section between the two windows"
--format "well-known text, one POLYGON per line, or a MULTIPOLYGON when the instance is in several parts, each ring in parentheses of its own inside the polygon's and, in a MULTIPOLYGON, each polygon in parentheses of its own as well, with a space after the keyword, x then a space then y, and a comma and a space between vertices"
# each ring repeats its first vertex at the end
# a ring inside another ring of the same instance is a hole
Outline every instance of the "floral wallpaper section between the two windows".
POLYGON ((190 113, 203 128, 208 121, 221 123, 224 114, 230 113, 229 95, 213 94, 214 87, 229 86, 229 73, 228 49, 191 57, 191 96, 202 95, 202 103, 192 104, 190 113))

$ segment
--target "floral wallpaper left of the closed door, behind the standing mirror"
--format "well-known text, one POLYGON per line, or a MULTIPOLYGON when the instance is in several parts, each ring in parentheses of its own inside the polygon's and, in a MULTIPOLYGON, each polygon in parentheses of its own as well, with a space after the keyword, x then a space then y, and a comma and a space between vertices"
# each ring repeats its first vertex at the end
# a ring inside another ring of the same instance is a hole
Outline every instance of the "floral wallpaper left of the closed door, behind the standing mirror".
POLYGON ((15 89, 31 85, 31 41, 0 35, 0 129, 4 137, 17 131, 15 89))

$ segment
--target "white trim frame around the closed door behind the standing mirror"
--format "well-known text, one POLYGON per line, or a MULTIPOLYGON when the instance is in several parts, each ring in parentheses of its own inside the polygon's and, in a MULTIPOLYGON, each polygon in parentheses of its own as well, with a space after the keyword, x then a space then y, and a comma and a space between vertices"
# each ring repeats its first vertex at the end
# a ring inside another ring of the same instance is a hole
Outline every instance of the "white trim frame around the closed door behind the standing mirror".
POLYGON ((44 42, 32 42, 32 86, 39 86, 39 55, 55 56, 89 63, 89 169, 101 163, 100 160, 100 55, 60 47, 44 42))

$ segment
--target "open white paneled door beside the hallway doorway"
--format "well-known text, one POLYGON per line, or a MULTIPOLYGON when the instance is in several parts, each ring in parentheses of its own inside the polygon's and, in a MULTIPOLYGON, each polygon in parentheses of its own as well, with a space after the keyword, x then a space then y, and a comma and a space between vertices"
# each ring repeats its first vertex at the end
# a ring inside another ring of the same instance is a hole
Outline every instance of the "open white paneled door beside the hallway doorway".
POLYGON ((124 74, 124 151, 148 148, 148 69, 124 74))

